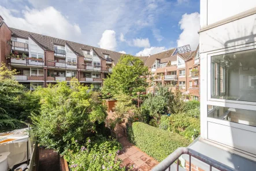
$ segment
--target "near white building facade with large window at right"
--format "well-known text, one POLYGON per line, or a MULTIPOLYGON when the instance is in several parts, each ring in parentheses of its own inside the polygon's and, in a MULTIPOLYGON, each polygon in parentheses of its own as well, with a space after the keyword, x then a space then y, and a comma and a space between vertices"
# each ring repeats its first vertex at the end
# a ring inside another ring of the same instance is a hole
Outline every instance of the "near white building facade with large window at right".
POLYGON ((199 47, 201 140, 256 161, 256 1, 201 0, 199 47))

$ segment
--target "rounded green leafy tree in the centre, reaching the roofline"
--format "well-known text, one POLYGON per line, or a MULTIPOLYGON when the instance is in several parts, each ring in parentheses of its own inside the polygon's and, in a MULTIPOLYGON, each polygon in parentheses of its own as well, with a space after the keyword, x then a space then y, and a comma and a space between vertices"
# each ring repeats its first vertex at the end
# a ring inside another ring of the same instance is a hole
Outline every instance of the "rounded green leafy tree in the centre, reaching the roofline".
POLYGON ((107 98, 120 93, 136 96, 136 92, 146 90, 148 73, 147 66, 138 57, 122 55, 112 74, 104 80, 102 93, 107 98))

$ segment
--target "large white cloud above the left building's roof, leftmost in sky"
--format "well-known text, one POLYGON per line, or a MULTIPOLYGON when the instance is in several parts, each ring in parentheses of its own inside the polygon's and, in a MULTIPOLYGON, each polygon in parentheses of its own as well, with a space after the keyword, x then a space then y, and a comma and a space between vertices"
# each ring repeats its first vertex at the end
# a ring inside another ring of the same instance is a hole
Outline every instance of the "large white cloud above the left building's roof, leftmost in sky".
POLYGON ((79 25, 69 23, 66 17, 62 16, 62 14, 53 7, 42 10, 25 8, 23 9, 23 18, 15 17, 13 10, 6 9, 2 6, 0 6, 0 11, 9 27, 61 39, 80 40, 81 29, 79 25))

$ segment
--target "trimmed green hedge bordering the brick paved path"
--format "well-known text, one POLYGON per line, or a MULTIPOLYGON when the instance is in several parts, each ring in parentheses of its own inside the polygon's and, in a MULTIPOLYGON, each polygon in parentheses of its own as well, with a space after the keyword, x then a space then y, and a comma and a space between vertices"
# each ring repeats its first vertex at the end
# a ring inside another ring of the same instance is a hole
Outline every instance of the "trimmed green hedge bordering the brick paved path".
POLYGON ((132 127, 128 127, 127 133, 131 143, 159 162, 178 147, 187 147, 190 143, 177 133, 155 128, 142 122, 133 122, 132 127))

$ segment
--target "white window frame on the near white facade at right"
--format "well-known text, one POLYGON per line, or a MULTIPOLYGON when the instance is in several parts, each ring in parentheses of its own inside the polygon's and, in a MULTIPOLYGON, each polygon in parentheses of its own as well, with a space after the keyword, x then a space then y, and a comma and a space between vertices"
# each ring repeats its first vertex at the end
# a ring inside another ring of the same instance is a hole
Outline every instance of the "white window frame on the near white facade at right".
MULTIPOLYGON (((229 53, 236 53, 239 51, 246 51, 246 50, 253 50, 254 46, 237 46, 236 49, 225 49, 222 51, 218 51, 216 53, 212 54, 207 54, 206 62, 207 62, 207 101, 204 103, 206 105, 203 107, 203 109, 207 109, 207 105, 213 105, 213 106, 221 106, 221 107, 232 107, 235 109, 245 109, 245 110, 254 110, 256 112, 256 102, 247 102, 247 101, 233 101, 233 100, 226 100, 226 99, 215 99, 212 98, 212 57, 216 55, 224 55, 224 54, 229 54, 229 53)), ((202 94, 205 92, 202 92, 202 94)), ((207 110, 205 111, 207 112, 207 110)), ((207 113, 208 114, 208 113, 207 113)), ((204 119, 203 119, 204 120, 204 119)), ((222 125, 227 125, 228 127, 233 127, 233 128, 239 128, 239 129, 244 129, 246 131, 252 131, 256 132, 256 127, 250 126, 250 125, 244 125, 244 124, 239 124, 235 122, 230 122, 230 121, 225 121, 225 120, 220 120, 218 118, 210 118, 206 117, 206 120, 204 120, 204 129, 205 133, 204 136, 207 137, 207 122, 214 122, 216 124, 222 124, 222 125)))

